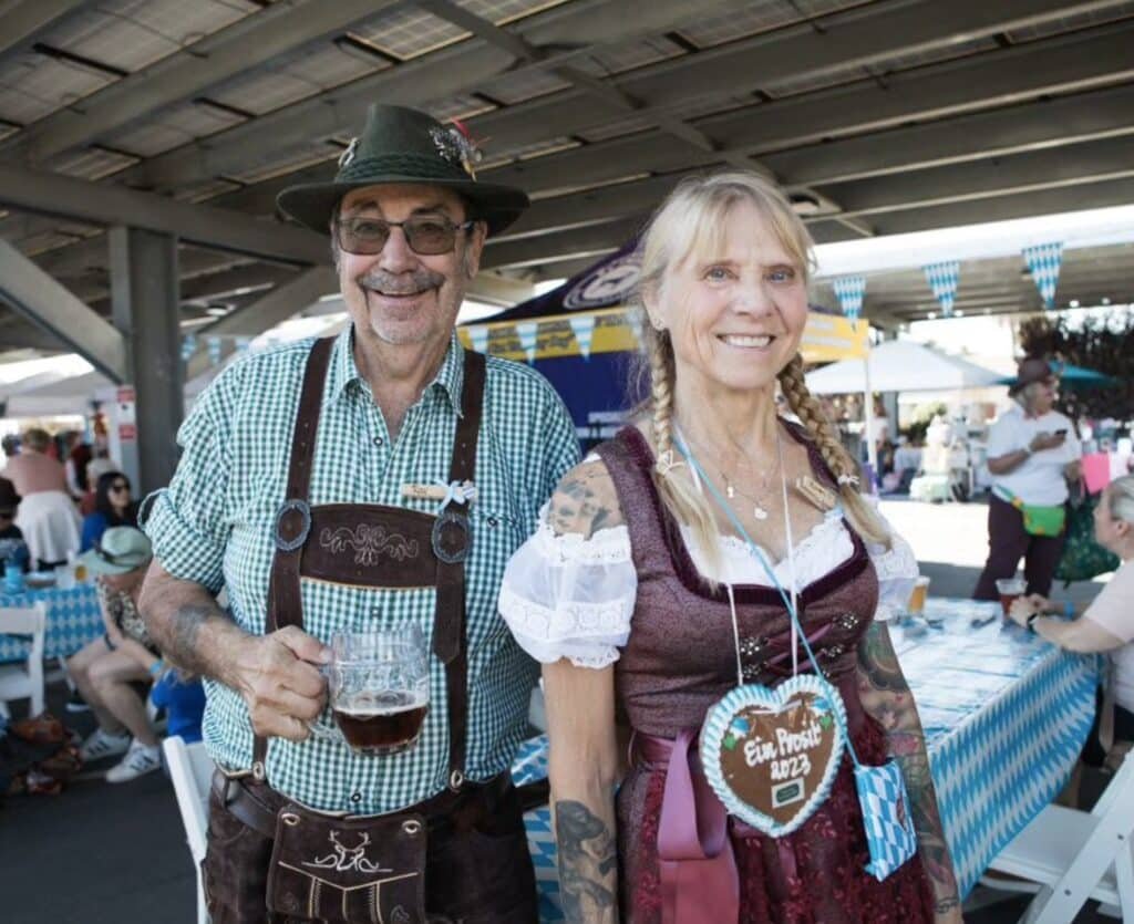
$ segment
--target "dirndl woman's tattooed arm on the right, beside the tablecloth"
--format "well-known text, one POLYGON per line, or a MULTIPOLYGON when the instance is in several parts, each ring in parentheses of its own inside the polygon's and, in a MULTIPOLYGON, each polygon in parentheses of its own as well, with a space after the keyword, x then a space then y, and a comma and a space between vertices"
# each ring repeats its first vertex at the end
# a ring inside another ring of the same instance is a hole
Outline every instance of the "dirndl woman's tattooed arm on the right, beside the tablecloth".
POLYGON ((863 709, 882 724, 890 754, 902 768, 919 853, 937 896, 937 912, 950 912, 959 906, 960 898, 937 807, 925 736, 889 631, 878 622, 858 644, 858 697, 863 709))

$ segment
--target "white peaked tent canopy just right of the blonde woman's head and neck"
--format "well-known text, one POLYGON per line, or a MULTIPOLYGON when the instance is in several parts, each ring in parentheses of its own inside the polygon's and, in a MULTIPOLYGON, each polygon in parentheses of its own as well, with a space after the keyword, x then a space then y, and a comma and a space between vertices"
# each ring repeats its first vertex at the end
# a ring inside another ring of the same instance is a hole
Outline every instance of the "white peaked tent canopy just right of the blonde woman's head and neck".
POLYGON ((844 359, 807 375, 815 395, 864 391, 959 391, 996 384, 1004 376, 956 356, 938 353, 912 340, 887 340, 872 347, 866 362, 844 359))

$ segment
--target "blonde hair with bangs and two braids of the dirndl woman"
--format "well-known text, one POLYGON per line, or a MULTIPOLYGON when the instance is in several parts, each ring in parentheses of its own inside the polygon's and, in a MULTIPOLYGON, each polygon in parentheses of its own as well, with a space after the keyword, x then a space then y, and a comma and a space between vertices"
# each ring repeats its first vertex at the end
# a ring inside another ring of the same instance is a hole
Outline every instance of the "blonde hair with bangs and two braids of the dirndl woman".
MULTIPOLYGON (((705 497, 692 482, 674 477, 674 348, 668 331, 657 330, 650 323, 645 306, 646 302, 662 297, 666 274, 674 266, 693 255, 721 253, 727 218, 741 203, 755 206, 806 283, 814 265, 811 235, 787 197, 756 173, 729 171, 682 180, 654 212, 642 243, 637 307, 644 362, 640 382, 648 390, 643 388, 640 393, 649 395, 644 410, 650 417, 658 459, 654 482, 662 502, 679 522, 693 528, 705 550, 717 546, 719 529, 705 497)), ((799 354, 792 357, 778 378, 788 406, 806 427, 838 482, 847 519, 864 539, 889 545, 889 531, 856 486, 858 466, 843 447, 819 401, 807 391, 803 357, 799 354)))

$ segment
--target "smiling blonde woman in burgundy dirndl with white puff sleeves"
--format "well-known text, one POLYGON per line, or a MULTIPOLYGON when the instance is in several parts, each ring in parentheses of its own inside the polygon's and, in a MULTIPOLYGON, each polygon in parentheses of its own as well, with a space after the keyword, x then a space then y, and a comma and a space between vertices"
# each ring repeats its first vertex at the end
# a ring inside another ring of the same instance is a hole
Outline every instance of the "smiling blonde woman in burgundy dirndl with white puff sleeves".
MULTIPOLYGON (((804 384, 810 263, 806 230, 762 178, 678 186, 643 245, 648 413, 568 473, 506 573, 501 612, 544 663, 570 921, 617 921, 620 906, 626 919, 655 924, 696 891, 675 887, 658 857, 672 743, 736 685, 738 661, 746 683, 775 686, 792 672, 780 597, 682 446, 780 562, 778 579, 789 586, 794 571, 804 630, 846 701, 858 757, 898 758, 920 847, 882 882, 863 871, 844 757, 831 795, 795 833, 773 840, 729 820, 738 900, 711 919, 960 919, 917 713, 878 621, 905 603, 916 563, 860 495, 856 466, 804 384), (777 416, 777 383, 803 426, 777 416), (616 717, 634 732, 625 775, 616 717)), ((799 669, 810 671, 802 653, 799 669)))

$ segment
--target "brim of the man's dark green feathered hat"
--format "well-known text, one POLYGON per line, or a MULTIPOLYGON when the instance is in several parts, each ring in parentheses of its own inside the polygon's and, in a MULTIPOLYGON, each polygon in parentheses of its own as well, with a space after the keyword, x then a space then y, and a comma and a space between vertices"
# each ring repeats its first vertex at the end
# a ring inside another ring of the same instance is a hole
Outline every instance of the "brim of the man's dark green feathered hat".
POLYGON ((514 186, 458 179, 423 179, 411 176, 387 176, 380 180, 359 179, 349 183, 303 183, 282 189, 276 197, 280 210, 313 231, 329 235, 331 214, 339 201, 353 189, 367 186, 413 184, 451 189, 469 203, 472 218, 489 226, 489 236, 498 235, 531 204, 527 194, 514 186))

